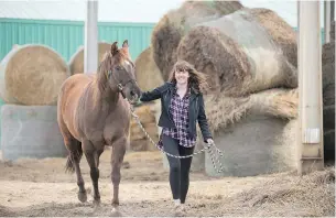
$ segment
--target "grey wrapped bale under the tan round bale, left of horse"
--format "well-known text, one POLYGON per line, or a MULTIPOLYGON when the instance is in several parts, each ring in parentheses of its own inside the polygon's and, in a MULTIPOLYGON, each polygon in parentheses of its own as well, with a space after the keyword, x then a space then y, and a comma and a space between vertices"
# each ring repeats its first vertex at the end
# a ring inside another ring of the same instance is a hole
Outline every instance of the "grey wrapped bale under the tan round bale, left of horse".
POLYGON ((4 160, 67 155, 56 106, 2 106, 1 134, 4 160))

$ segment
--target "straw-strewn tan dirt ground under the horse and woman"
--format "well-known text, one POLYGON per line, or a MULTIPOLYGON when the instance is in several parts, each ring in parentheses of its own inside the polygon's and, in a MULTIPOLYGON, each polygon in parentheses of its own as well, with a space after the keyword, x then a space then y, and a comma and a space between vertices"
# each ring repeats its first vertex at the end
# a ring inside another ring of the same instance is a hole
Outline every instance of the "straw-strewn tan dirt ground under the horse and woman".
MULTIPOLYGON (((77 199, 75 174, 66 174, 65 159, 0 161, 0 216, 110 216, 110 151, 100 159, 101 207, 77 199)), ((80 162, 86 188, 91 182, 85 157, 80 162)), ((212 178, 191 174, 185 216, 335 216, 334 166, 307 176, 294 172, 252 177, 212 178)), ((173 216, 169 172, 160 152, 127 153, 120 184, 122 216, 173 216)))

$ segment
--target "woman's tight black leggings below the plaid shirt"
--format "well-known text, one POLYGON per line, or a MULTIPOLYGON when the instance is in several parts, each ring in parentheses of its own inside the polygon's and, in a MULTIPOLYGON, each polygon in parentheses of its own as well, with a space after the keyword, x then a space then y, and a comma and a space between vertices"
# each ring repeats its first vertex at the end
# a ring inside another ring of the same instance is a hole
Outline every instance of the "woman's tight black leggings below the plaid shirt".
MULTIPOLYGON (((178 140, 167 135, 162 135, 163 149, 173 155, 189 155, 194 152, 194 148, 184 148, 178 145, 178 140)), ((174 199, 185 203, 186 194, 189 187, 189 170, 193 157, 175 159, 167 156, 170 163, 170 184, 174 199)))

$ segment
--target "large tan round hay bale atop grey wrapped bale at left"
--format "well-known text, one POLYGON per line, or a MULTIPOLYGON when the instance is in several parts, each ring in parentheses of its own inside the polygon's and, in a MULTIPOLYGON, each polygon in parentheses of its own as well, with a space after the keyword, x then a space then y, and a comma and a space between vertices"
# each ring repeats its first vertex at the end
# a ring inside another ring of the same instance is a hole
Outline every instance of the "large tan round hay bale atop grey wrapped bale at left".
POLYGON ((13 46, 0 63, 0 95, 8 103, 55 105, 68 76, 67 64, 51 47, 13 46))

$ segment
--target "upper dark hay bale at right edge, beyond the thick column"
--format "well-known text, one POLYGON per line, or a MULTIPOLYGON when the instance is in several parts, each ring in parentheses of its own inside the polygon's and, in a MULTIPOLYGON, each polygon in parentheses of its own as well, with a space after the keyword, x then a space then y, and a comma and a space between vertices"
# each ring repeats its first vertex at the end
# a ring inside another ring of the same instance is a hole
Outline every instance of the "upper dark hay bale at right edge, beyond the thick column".
POLYGON ((322 74, 323 105, 335 106, 335 42, 329 42, 323 45, 322 74))

